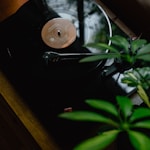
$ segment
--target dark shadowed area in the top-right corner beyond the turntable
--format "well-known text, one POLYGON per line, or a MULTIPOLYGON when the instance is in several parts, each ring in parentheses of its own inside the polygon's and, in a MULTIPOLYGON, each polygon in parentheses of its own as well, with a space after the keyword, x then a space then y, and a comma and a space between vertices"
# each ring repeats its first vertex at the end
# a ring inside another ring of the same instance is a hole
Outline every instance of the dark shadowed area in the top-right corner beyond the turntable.
MULTIPOLYGON (((150 3, 147 0, 100 0, 137 36, 150 40, 150 3)), ((115 18, 114 18, 115 19, 115 18)))

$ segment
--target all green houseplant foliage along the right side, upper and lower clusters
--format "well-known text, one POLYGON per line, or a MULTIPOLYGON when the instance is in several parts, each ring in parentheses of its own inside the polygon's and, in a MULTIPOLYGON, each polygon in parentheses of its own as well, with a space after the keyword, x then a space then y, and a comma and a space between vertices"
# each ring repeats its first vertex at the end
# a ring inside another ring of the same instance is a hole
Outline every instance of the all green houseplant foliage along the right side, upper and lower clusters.
MULTIPOLYGON (((100 53, 85 57, 80 62, 114 59, 113 65, 116 66, 118 72, 124 74, 121 82, 136 87, 138 94, 148 107, 134 107, 132 100, 127 96, 116 96, 117 103, 115 104, 107 100, 87 99, 85 102, 94 110, 72 111, 62 113, 59 117, 100 123, 98 134, 79 143, 74 148, 75 150, 105 149, 115 140, 120 141, 122 133, 127 137, 124 140, 129 140, 131 149, 148 150, 150 149, 147 144, 150 142, 150 135, 147 134, 150 129, 150 103, 146 91, 149 89, 147 81, 150 78, 150 69, 147 67, 150 61, 150 43, 145 39, 131 40, 120 35, 109 37, 109 40, 111 40, 111 45, 106 43, 84 45, 99 49, 100 53), (105 130, 101 130, 101 124, 105 125, 105 130)), ((121 150, 125 145, 128 143, 122 143, 121 150)))

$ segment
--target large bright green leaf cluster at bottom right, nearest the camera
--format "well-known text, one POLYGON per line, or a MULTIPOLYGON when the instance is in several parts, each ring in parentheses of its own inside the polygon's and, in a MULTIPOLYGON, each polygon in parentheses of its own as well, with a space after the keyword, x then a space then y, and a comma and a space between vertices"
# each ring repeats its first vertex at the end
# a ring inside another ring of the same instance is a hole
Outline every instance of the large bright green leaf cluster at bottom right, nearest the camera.
POLYGON ((99 132, 97 136, 81 142, 74 150, 105 149, 122 132, 127 133, 131 144, 136 150, 150 149, 150 138, 142 130, 141 132, 139 131, 139 129, 150 129, 150 109, 134 109, 128 97, 117 96, 116 100, 117 105, 105 100, 87 99, 85 102, 96 109, 95 111, 81 110, 65 112, 59 115, 64 119, 98 122, 111 127, 108 130, 99 132), (108 115, 102 115, 97 110, 104 111, 108 115))

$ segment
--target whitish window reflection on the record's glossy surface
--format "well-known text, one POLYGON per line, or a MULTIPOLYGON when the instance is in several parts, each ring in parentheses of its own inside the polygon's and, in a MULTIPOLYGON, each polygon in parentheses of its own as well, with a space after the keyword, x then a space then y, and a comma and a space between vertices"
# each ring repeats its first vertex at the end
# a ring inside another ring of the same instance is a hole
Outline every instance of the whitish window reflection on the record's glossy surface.
MULTIPOLYGON (((112 36, 111 23, 105 11, 92 0, 83 1, 83 20, 79 19, 77 0, 47 0, 49 7, 53 8, 61 17, 69 19, 75 25, 77 35, 80 37, 80 24, 84 21, 84 44, 91 42, 110 42, 112 36), (79 21, 80 20, 80 21, 79 21)), ((82 9, 80 9, 82 10, 82 9)), ((90 49, 92 52, 96 49, 90 49)))

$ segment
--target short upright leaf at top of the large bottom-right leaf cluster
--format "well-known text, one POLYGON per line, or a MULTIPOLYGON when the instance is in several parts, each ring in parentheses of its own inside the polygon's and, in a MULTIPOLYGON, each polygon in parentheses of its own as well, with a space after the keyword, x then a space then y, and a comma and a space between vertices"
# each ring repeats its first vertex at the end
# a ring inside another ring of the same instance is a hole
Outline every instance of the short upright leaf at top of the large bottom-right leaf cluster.
POLYGON ((124 117, 127 118, 131 114, 133 108, 131 100, 125 96, 117 96, 116 100, 124 117))

